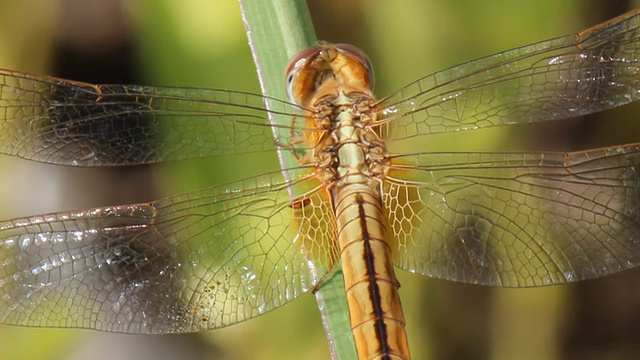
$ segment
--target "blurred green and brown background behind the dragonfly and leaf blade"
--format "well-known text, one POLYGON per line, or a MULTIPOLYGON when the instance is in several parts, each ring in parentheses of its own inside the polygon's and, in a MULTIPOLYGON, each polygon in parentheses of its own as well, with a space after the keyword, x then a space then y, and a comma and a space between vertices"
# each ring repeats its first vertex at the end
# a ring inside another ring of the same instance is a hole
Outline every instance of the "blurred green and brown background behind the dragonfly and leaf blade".
MULTIPOLYGON (((320 39, 352 43, 369 55, 376 71, 376 92, 384 96, 442 68, 583 30, 638 2, 331 0, 309 5, 320 39)), ((87 51, 99 56, 118 42, 127 44, 133 59, 132 81, 137 83, 258 91, 235 0, 0 0, 0 67, 53 74, 61 43, 86 49, 97 44, 97 49, 87 51)), ((100 81, 121 82, 106 75, 100 81)), ((639 133, 638 126, 633 121, 618 122, 614 116, 634 120, 638 113, 637 107, 627 107, 588 119, 585 126, 563 122, 538 130, 539 137, 551 137, 552 146, 562 148, 637 141, 633 137, 639 133), (567 137, 570 144, 563 145, 567 137)), ((53 172, 71 174, 61 176, 74 184, 89 183, 90 195, 96 189, 110 194, 109 186, 129 185, 165 193, 233 180, 243 176, 247 167, 273 166, 275 157, 267 154, 243 162, 242 168, 233 168, 233 163, 239 163, 233 159, 206 167, 184 162, 115 175, 16 164, 6 157, 0 161, 7 169, 3 173, 11 174, 4 177, 0 190, 3 199, 12 199, 0 206, 6 218, 155 196, 130 191, 97 200, 80 197, 75 195, 75 185, 67 183, 60 190, 53 186, 48 179, 53 172), (41 176, 25 175, 29 173, 24 167, 41 176), (80 172, 89 177, 77 175, 80 172), (107 181, 96 186, 91 182, 96 178, 107 181), (56 196, 50 200, 52 192, 56 196)), ((399 277, 415 359, 640 358, 638 271, 583 284, 524 290, 452 284, 403 272, 399 277)), ((0 358, 88 357, 327 359, 329 353, 310 295, 243 324, 196 335, 145 337, 0 327, 0 358)))

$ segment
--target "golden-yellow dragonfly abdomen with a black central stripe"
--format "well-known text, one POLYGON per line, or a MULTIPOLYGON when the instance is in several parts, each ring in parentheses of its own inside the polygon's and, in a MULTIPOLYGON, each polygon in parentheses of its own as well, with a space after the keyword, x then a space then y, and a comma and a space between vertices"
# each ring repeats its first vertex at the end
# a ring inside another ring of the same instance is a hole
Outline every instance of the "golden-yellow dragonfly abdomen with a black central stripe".
POLYGON ((381 200, 365 184, 336 191, 336 220, 359 359, 409 359, 381 200))

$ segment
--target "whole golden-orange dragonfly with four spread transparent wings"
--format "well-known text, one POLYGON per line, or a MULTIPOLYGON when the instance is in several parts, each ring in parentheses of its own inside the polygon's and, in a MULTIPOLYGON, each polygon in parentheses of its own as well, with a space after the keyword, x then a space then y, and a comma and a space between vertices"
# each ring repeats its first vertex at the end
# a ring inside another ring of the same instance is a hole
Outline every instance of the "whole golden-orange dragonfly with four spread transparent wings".
POLYGON ((296 160, 148 203, 0 222, 0 322, 206 331, 315 291, 340 266, 358 358, 409 359, 395 268, 530 287, 636 267, 640 143, 423 149, 439 134, 637 100, 639 37, 634 10, 436 72, 379 100, 366 55, 344 44, 292 58, 288 101, 0 70, 3 154, 80 167, 265 151, 296 160))

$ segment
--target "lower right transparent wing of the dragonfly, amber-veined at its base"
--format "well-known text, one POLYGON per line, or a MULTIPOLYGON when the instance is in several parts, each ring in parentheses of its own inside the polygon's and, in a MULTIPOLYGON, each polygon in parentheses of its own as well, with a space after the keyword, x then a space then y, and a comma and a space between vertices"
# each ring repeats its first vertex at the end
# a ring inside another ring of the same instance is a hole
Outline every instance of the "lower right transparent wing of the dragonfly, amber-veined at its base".
POLYGON ((392 157, 383 201, 397 266, 508 287, 640 264, 640 146, 392 157))

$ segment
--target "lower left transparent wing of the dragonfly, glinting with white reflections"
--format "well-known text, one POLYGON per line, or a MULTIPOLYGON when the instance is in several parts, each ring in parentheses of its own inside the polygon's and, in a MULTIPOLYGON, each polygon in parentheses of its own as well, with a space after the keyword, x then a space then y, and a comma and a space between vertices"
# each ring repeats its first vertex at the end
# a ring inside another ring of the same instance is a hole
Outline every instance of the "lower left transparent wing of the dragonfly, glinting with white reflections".
POLYGON ((319 243, 335 235, 329 212, 308 206, 321 193, 289 200, 289 187, 315 189, 315 178, 281 178, 0 223, 0 322, 181 333, 288 302, 337 251, 319 243))

